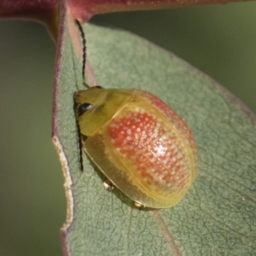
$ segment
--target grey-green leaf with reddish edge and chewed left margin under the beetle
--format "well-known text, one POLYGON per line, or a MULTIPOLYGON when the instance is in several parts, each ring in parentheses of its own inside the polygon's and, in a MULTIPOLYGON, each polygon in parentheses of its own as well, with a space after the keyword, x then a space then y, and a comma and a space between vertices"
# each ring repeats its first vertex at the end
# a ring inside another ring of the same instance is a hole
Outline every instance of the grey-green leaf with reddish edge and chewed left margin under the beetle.
MULTIPOLYGON (((71 25, 71 27, 74 25, 71 25)), ((73 28, 76 29, 76 28, 73 28)), ((215 81, 131 33, 86 25, 89 84, 159 96, 195 135, 198 175, 176 206, 138 210, 84 155, 79 170, 73 93, 82 86, 76 46, 61 26, 53 140, 66 179, 66 255, 253 255, 256 253, 256 125, 253 113, 215 81)), ((72 31, 72 28, 71 28, 72 31)))

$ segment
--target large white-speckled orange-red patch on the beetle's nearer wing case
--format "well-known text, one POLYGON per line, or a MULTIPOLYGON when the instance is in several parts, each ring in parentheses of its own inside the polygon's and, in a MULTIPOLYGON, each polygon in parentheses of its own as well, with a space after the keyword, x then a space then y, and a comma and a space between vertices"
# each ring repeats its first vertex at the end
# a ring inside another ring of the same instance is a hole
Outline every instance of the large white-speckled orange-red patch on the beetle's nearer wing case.
POLYGON ((112 120, 108 127, 113 147, 136 166, 150 184, 172 191, 189 185, 187 158, 177 135, 143 108, 112 120))

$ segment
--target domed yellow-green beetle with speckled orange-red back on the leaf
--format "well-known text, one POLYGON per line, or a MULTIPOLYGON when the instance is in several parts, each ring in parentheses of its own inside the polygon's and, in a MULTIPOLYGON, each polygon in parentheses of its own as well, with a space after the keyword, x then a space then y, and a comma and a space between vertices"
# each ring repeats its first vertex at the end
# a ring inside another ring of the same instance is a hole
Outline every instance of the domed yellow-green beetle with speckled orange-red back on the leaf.
MULTIPOLYGON (((84 42, 83 28, 76 20, 84 42)), ((85 83, 84 83, 85 84, 85 83)), ((137 207, 166 208, 181 201, 195 180, 197 149, 185 121, 148 91, 104 89, 74 94, 80 144, 137 207)))

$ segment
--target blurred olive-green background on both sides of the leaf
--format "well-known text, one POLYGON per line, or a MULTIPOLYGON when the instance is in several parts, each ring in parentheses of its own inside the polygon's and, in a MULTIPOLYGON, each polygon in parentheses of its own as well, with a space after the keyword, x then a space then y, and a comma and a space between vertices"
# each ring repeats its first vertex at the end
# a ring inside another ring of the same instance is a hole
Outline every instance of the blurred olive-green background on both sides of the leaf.
MULTIPOLYGON (((256 3, 247 2, 93 21, 172 51, 256 113, 255 13, 256 3)), ((0 255, 62 255, 66 200, 50 137, 55 44, 32 21, 0 20, 0 35, 0 255)))

